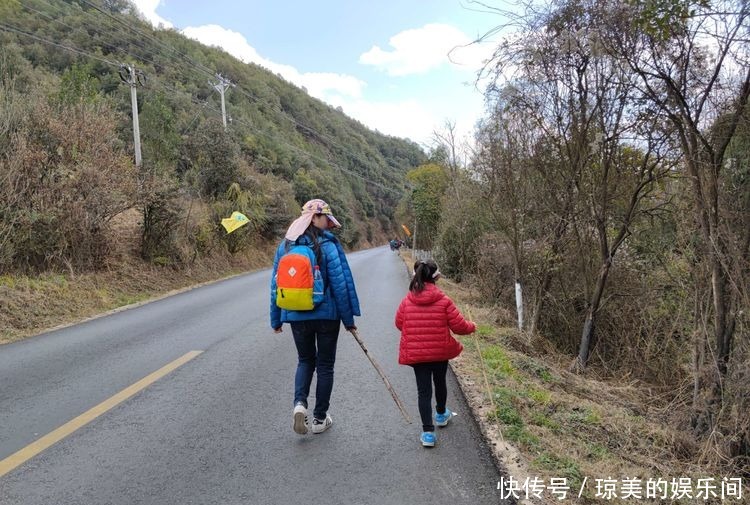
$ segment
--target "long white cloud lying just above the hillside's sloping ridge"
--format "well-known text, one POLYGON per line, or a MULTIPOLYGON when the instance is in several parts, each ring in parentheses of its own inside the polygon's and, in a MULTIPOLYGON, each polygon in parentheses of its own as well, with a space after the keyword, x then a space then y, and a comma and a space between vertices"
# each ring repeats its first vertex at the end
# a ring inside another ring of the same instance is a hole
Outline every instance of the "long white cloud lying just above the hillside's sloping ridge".
POLYGON ((307 72, 302 73, 291 65, 283 65, 268 60, 258 54, 241 33, 228 30, 219 25, 190 26, 182 33, 191 39, 209 46, 224 49, 232 56, 245 63, 255 63, 267 68, 271 72, 280 74, 289 82, 304 87, 308 93, 321 100, 326 93, 337 92, 347 96, 359 97, 365 83, 356 77, 346 74, 307 72))

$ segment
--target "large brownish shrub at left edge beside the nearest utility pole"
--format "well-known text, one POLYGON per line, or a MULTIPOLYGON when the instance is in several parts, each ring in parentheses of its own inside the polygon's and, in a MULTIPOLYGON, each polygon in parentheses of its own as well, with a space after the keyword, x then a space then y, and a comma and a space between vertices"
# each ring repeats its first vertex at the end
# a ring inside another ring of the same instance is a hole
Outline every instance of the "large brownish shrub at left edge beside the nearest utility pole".
POLYGON ((99 268, 113 217, 135 201, 136 173, 106 103, 29 106, 0 158, 3 268, 99 268))

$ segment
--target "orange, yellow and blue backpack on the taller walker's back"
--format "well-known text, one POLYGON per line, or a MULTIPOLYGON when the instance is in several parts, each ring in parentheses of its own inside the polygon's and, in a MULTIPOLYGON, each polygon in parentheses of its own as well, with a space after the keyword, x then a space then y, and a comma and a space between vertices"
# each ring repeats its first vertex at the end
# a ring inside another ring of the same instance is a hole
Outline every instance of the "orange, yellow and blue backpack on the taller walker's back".
POLYGON ((276 270, 276 305, 285 310, 313 310, 323 301, 324 288, 312 248, 302 244, 289 248, 276 270))

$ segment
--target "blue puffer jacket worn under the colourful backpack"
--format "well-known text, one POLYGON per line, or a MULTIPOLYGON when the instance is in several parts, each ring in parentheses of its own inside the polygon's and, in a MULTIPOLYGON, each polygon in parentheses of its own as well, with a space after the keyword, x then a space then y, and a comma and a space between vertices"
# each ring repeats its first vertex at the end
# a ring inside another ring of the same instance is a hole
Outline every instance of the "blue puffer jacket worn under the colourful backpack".
MULTIPOLYGON (((325 279, 323 301, 313 310, 283 310, 276 305, 276 271, 279 259, 286 252, 286 239, 276 249, 271 273, 271 328, 280 328, 282 323, 308 321, 311 319, 341 320, 344 326, 354 326, 354 316, 359 316, 359 299, 354 288, 354 278, 349 263, 344 255, 344 248, 329 231, 324 231, 320 238, 322 253, 321 271, 325 279)), ((312 244, 307 235, 297 239, 299 244, 312 244)))

